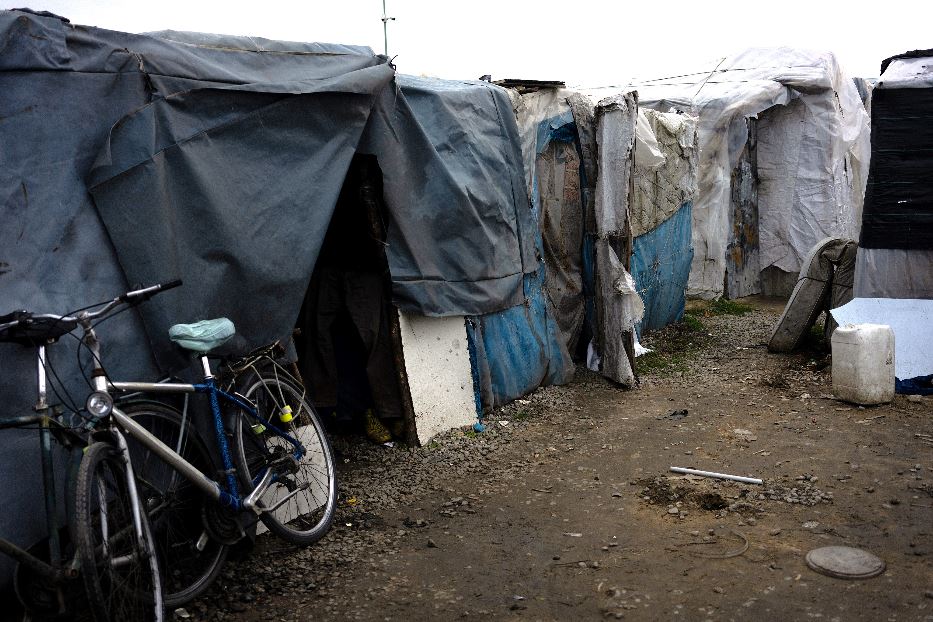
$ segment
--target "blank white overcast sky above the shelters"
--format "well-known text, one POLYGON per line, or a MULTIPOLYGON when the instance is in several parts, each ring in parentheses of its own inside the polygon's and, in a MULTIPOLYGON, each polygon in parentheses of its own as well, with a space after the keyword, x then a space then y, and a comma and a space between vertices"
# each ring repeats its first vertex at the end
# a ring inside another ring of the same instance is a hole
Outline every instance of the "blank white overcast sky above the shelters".
MULTIPOLYGON (((622 84, 662 77, 751 46, 836 53, 853 76, 933 47, 933 2, 826 0, 386 0, 389 54, 402 73, 622 84)), ((383 50, 381 0, 0 0, 126 32, 193 30, 383 50)))

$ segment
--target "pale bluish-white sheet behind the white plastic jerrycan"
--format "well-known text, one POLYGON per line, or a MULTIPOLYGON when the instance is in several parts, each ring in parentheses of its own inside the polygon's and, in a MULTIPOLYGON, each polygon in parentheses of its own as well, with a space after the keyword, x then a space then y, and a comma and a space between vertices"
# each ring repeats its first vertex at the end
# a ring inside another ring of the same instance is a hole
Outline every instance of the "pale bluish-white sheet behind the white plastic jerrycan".
POLYGON ((831 313, 840 326, 890 326, 894 331, 894 375, 900 380, 933 374, 933 300, 855 298, 831 313))

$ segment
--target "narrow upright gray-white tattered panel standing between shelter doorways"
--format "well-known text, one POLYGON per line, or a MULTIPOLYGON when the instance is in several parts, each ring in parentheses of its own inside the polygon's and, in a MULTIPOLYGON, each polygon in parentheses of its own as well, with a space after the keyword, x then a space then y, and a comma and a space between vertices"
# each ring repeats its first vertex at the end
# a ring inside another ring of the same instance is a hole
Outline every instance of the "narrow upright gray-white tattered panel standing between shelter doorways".
POLYGON ((633 332, 644 312, 635 283, 625 269, 625 254, 631 253, 632 243, 629 209, 637 116, 634 92, 603 99, 596 108, 596 337, 601 373, 628 386, 635 381, 633 332))

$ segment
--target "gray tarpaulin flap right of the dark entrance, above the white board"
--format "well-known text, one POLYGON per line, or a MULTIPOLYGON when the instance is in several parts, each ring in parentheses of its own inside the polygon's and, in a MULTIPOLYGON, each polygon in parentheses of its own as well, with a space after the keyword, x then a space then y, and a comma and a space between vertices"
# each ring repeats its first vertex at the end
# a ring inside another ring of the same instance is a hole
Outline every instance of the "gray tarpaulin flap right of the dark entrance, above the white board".
POLYGON ((537 229, 508 93, 482 81, 397 81, 360 146, 383 171, 394 302, 438 316, 519 304, 538 268, 537 229))

